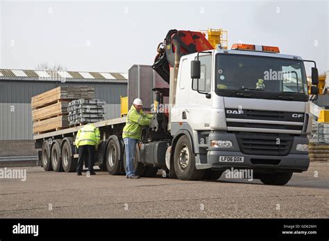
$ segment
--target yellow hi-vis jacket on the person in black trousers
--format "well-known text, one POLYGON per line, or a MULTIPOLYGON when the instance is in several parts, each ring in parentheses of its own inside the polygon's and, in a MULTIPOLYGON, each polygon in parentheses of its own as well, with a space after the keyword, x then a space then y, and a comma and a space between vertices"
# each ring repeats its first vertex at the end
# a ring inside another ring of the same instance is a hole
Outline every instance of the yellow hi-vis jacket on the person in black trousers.
POLYGON ((94 145, 97 148, 101 141, 101 134, 99 134, 99 128, 94 127, 92 124, 87 124, 78 130, 76 135, 76 147, 81 145, 94 145))

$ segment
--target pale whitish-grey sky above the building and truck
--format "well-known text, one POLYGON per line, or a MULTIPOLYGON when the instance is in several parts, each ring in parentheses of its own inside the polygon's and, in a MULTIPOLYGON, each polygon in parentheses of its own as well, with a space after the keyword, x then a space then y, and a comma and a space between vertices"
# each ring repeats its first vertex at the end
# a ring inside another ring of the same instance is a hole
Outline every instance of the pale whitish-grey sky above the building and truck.
MULTIPOLYGON (((168 30, 228 30, 228 46, 279 46, 329 71, 328 1, 4 1, 0 68, 128 72, 168 30)), ((306 65, 309 69, 310 65, 306 65)))

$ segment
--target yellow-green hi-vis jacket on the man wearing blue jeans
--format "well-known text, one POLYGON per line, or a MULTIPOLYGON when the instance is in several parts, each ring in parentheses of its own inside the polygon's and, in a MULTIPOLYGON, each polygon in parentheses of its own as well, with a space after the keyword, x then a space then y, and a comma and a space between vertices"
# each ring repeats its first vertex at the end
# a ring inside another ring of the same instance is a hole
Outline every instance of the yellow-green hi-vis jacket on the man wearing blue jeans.
POLYGON ((127 114, 122 138, 139 140, 142 136, 142 125, 150 125, 152 117, 152 114, 145 114, 142 109, 137 111, 132 105, 127 114))

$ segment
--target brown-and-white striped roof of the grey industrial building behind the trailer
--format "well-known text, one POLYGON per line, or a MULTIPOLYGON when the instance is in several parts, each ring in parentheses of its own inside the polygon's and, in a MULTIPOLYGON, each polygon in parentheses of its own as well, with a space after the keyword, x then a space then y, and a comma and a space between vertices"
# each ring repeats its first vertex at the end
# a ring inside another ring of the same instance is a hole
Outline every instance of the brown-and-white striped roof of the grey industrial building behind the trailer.
POLYGON ((127 82, 128 73, 0 69, 0 80, 60 82, 127 82))

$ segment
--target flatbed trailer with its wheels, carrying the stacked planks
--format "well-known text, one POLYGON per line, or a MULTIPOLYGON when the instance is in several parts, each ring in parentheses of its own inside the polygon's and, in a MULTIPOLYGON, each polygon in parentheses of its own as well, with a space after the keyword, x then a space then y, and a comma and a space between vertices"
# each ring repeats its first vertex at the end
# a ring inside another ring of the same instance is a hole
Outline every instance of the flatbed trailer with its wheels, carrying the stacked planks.
MULTIPOLYGON (((126 123, 126 117, 113 118, 93 123, 99 127, 101 143, 96 152, 94 166, 108 170, 112 175, 124 174, 124 141, 121 134, 126 123), (107 161, 106 161, 107 160, 107 161), (106 164, 108 163, 108 164, 106 164)), ((44 170, 60 172, 76 171, 78 150, 74 145, 76 133, 83 125, 69 127, 44 134, 35 134, 35 148, 40 149, 39 159, 44 170)))

